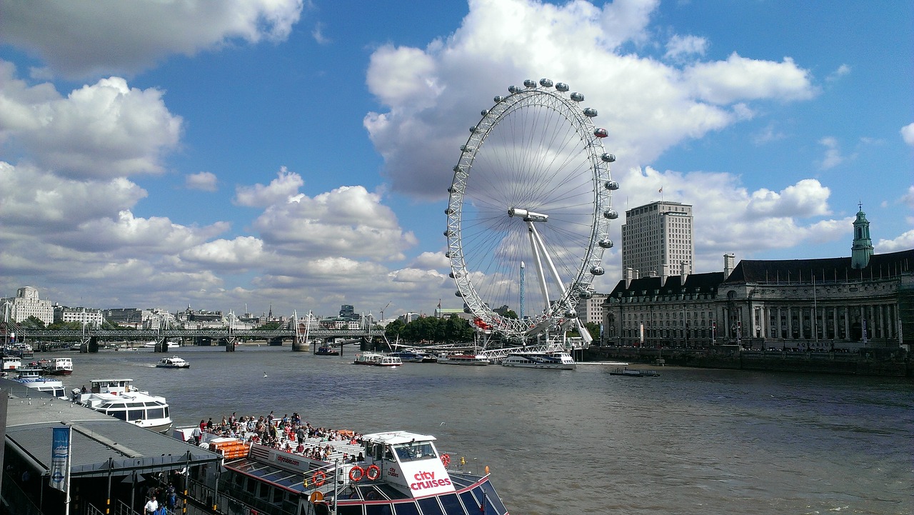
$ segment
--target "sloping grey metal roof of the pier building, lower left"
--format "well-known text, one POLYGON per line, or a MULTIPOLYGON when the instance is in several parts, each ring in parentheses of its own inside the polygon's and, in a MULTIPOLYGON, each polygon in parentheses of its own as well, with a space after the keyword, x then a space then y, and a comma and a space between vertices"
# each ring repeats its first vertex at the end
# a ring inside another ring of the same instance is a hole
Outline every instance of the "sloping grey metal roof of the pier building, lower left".
POLYGON ((136 471, 158 472, 204 463, 222 456, 170 436, 143 429, 89 408, 54 399, 16 382, 0 379, 9 390, 6 449, 47 474, 51 460, 51 428, 70 425, 71 477, 99 477, 136 471))

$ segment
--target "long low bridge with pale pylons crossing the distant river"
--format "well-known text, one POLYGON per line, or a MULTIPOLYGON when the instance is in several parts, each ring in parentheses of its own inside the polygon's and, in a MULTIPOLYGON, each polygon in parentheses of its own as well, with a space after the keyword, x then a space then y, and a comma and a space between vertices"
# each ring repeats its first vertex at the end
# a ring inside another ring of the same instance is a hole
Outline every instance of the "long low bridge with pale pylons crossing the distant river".
POLYGON ((85 330, 51 330, 51 329, 29 329, 18 327, 16 329, 17 341, 20 342, 40 342, 36 346, 37 350, 53 350, 69 347, 71 344, 62 343, 61 340, 80 341, 80 352, 97 352, 100 341, 154 341, 156 352, 167 352, 169 340, 177 338, 191 339, 197 345, 221 345, 225 342, 226 350, 229 352, 235 350, 235 345, 239 339, 264 340, 270 345, 282 345, 282 341, 292 339, 292 350, 307 350, 309 341, 322 339, 329 345, 335 345, 331 342, 342 338, 345 343, 370 342, 375 338, 384 338, 384 329, 380 328, 360 328, 360 329, 328 329, 328 328, 310 328, 303 329, 295 325, 295 329, 237 329, 232 327, 220 327, 209 329, 90 329, 85 330))

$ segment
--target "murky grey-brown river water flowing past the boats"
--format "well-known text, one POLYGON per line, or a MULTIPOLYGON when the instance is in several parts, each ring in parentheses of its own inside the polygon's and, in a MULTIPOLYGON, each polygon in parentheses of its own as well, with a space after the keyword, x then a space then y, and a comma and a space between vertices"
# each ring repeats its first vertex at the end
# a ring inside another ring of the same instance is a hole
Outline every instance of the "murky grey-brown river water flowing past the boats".
MULTIPOLYGON (((352 365, 289 346, 69 353, 68 388, 132 378, 164 395, 177 425, 301 413, 363 433, 435 435, 490 467, 515 515, 914 513, 909 379, 667 367, 525 370, 352 365)), ((45 356, 37 355, 37 358, 45 356)))

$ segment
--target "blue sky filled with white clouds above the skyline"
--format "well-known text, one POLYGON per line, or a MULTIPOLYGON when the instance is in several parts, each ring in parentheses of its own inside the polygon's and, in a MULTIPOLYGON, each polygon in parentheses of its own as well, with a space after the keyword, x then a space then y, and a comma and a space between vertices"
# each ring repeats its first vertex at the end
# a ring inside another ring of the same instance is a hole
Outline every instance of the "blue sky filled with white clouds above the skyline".
MULTIPOLYGON (((610 129, 696 272, 914 247, 914 5, 0 0, 0 296, 376 316, 460 307, 443 208, 525 79, 610 129), (389 306, 388 306, 389 303, 389 306)), ((623 218, 623 217, 622 217, 623 218)), ((613 238, 624 220, 612 227, 613 238)), ((621 277, 603 256, 598 291, 621 277)))

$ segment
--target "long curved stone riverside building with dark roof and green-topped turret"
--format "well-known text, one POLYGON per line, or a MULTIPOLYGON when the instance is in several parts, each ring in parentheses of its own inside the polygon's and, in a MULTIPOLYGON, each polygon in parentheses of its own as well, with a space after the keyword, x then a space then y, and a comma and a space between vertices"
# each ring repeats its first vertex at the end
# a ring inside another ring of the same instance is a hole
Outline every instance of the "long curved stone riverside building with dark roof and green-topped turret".
POLYGON ((622 279, 604 341, 753 349, 898 349, 914 339, 914 250, 874 254, 862 209, 850 257, 743 260, 724 272, 622 279))

